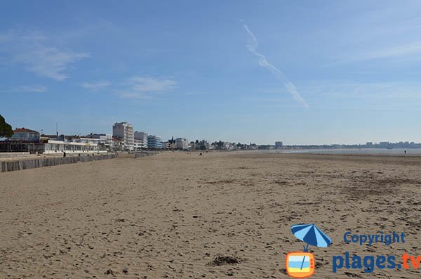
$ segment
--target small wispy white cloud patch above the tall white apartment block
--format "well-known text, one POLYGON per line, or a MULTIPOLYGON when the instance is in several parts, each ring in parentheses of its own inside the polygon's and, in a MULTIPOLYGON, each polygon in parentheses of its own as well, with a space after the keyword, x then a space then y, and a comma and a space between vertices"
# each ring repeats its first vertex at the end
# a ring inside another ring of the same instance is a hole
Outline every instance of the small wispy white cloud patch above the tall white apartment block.
POLYGON ((152 96, 175 88, 173 79, 154 79, 151 77, 132 77, 116 91, 123 98, 152 98, 152 96))

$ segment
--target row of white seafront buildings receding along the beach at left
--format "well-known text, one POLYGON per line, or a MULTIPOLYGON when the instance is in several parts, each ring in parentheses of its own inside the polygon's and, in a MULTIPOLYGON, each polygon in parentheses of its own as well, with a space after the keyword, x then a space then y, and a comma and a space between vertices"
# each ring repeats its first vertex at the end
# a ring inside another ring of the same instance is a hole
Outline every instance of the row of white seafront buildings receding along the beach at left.
MULTIPOLYGON (((282 142, 265 145, 264 149, 282 148, 282 142)), ((128 122, 116 122, 112 134, 88 134, 85 136, 65 136, 40 134, 27 128, 13 130, 13 136, 0 141, 0 152, 29 153, 107 153, 135 150, 256 150, 262 145, 254 143, 230 143, 206 140, 187 141, 187 138, 171 138, 162 141, 161 136, 149 135, 145 131, 135 131, 128 122)), ((262 148, 263 149, 263 148, 262 148)))

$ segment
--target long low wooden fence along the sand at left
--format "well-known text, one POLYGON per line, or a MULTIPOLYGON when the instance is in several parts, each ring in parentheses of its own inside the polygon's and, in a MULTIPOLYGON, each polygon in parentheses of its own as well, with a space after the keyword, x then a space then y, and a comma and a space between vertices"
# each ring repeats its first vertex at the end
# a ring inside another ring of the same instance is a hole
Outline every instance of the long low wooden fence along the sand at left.
POLYGON ((36 158, 32 160, 4 161, 0 162, 0 172, 19 171, 21 169, 35 169, 37 167, 51 167, 59 164, 74 164, 77 162, 91 162, 96 160, 113 159, 119 157, 118 154, 95 155, 81 157, 49 157, 36 158))

